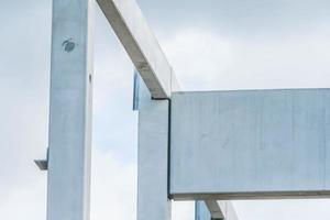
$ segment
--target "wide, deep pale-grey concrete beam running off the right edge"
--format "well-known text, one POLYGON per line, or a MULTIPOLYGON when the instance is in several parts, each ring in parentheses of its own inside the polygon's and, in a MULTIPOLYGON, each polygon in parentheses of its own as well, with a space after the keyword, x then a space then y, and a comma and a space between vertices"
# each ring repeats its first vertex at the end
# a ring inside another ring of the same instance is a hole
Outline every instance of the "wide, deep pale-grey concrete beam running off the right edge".
POLYGON ((326 196, 330 90, 177 92, 174 198, 326 196))

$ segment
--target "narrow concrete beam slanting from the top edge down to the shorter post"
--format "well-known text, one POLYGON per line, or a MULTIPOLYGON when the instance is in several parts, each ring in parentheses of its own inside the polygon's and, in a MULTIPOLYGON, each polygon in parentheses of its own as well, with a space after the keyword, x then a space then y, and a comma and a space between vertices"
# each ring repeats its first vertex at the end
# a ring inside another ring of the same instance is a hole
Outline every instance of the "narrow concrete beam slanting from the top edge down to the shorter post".
POLYGON ((169 98, 177 81, 134 0, 97 0, 153 98, 169 98))

